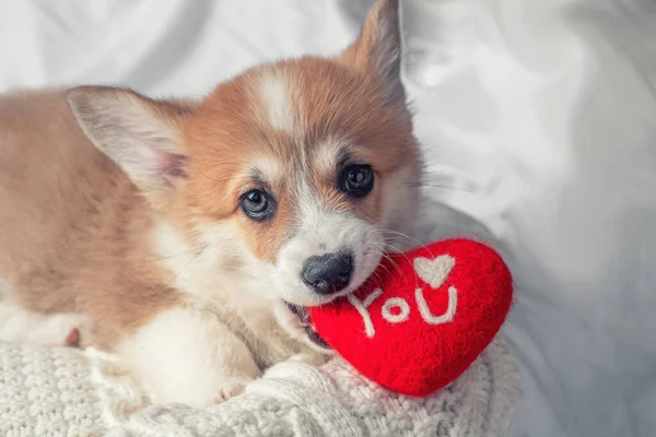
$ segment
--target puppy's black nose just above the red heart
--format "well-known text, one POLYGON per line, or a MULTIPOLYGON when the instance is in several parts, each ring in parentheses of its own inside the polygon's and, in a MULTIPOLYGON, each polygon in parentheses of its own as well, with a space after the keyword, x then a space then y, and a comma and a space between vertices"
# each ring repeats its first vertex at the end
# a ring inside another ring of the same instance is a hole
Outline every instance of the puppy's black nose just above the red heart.
POLYGON ((333 294, 351 281, 353 257, 349 253, 326 253, 309 257, 303 264, 303 281, 318 294, 333 294))

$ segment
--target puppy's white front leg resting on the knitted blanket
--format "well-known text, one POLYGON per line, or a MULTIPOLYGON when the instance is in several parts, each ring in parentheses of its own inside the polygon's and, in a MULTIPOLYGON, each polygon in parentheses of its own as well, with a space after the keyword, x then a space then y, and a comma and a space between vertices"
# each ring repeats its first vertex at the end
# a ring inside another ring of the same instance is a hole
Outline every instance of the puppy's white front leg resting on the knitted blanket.
POLYGON ((246 345, 213 315, 194 308, 160 314, 117 352, 157 403, 221 402, 259 374, 246 345))

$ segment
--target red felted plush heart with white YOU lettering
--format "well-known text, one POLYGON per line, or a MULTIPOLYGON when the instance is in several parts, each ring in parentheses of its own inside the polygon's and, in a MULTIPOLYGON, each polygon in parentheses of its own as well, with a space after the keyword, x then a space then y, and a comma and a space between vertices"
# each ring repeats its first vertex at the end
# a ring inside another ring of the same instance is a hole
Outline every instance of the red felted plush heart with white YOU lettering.
POLYGON ((468 239, 390 255, 352 296, 311 309, 316 331, 362 375, 424 397, 458 378, 499 332, 511 273, 468 239))

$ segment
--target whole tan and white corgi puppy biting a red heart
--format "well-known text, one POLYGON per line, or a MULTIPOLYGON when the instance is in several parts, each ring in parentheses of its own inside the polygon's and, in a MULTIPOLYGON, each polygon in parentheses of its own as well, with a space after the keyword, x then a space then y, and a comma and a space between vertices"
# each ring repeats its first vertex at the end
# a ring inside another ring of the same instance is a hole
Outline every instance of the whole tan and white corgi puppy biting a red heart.
POLYGON ((304 308, 411 243, 400 56, 398 1, 378 0, 340 56, 258 66, 199 102, 1 97, 0 339, 79 332, 153 402, 197 406, 274 363, 325 362, 304 308))

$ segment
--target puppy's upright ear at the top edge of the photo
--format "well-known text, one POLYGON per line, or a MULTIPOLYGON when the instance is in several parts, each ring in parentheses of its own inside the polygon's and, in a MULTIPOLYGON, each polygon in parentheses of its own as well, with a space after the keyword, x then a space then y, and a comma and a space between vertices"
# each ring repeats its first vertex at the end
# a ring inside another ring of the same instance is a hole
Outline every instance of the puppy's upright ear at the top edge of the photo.
POLYGON ((376 75, 387 104, 405 105, 398 0, 376 0, 360 36, 342 54, 341 60, 376 75))

